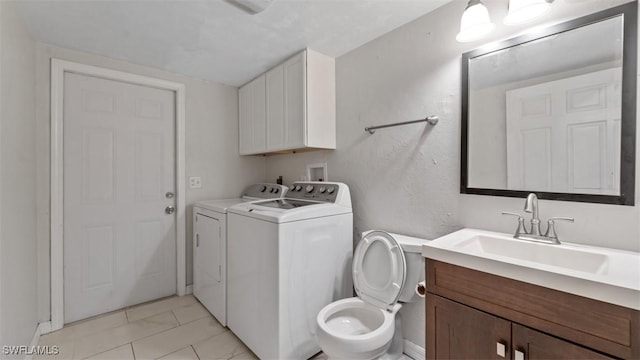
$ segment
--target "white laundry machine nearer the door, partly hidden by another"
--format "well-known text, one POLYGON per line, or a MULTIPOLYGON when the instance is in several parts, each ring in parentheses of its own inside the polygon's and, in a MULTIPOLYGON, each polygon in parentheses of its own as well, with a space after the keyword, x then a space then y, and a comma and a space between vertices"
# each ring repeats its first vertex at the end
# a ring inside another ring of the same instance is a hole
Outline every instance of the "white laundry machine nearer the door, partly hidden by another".
POLYGON ((288 188, 254 184, 241 198, 206 200, 193 207, 193 295, 227 325, 227 209, 249 201, 280 198, 288 188))

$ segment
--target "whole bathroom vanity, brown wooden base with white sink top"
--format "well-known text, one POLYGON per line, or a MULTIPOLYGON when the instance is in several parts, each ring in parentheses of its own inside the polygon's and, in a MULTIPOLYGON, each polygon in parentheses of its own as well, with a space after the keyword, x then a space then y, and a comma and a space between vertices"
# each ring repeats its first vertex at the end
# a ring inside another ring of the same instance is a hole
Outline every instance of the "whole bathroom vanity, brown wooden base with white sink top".
POLYGON ((428 359, 640 358, 637 253, 463 229, 423 256, 428 359))

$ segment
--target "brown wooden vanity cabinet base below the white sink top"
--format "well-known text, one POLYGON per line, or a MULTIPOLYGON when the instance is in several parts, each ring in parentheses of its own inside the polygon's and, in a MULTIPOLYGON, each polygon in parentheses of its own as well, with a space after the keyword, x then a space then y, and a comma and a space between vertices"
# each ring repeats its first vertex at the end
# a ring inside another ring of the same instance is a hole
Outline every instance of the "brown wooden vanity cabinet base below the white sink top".
POLYGON ((427 359, 638 359, 640 312, 426 259, 427 359))

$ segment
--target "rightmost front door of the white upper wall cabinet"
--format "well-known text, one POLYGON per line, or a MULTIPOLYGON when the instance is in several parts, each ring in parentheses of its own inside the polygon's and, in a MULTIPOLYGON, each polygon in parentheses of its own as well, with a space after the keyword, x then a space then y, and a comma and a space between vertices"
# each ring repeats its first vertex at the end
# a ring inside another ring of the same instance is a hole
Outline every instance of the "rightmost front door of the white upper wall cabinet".
POLYGON ((284 119, 288 149, 301 148, 306 142, 306 53, 284 63, 284 119))

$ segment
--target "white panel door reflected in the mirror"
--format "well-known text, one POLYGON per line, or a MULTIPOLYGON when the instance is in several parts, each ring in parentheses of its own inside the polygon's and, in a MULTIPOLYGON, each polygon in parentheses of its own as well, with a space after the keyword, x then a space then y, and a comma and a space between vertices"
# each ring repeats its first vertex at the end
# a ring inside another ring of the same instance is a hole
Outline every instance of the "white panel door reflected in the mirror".
POLYGON ((507 92, 507 184, 618 194, 619 68, 507 92))

